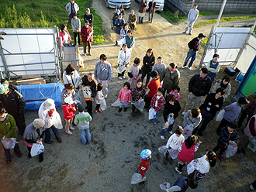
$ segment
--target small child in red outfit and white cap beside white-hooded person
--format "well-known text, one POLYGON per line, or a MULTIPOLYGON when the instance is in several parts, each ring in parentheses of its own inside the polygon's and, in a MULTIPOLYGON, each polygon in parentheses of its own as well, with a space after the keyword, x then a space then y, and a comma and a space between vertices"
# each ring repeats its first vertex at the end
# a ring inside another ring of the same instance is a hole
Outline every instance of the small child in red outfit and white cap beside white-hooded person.
POLYGON ((66 122, 65 130, 68 135, 72 135, 73 133, 70 130, 74 130, 73 127, 71 127, 73 118, 74 118, 74 112, 76 111, 73 99, 71 97, 67 97, 64 99, 64 105, 62 105, 63 111, 64 111, 64 119, 66 122), (70 130, 69 130, 70 129, 70 130))

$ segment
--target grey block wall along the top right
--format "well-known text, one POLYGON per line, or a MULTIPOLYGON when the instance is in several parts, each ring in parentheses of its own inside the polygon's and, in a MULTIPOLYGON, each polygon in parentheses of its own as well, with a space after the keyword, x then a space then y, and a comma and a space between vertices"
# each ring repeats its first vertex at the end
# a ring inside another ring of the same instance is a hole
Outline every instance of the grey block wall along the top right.
MULTIPOLYGON (((199 5, 199 11, 219 12, 223 0, 165 0, 165 6, 171 12, 186 14, 194 4, 199 5)), ((224 12, 256 12, 256 0, 227 0, 224 12)))

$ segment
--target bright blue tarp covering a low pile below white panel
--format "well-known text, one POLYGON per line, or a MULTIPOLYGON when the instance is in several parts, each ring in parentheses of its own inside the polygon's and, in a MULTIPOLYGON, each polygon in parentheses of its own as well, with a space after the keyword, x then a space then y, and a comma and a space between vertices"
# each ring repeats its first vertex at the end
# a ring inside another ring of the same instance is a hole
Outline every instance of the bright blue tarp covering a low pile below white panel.
MULTIPOLYGON (((55 101, 56 108, 61 108, 61 91, 64 89, 64 84, 27 84, 17 87, 25 100, 52 98, 55 101)), ((38 111, 42 103, 43 101, 26 101, 25 110, 38 111)))

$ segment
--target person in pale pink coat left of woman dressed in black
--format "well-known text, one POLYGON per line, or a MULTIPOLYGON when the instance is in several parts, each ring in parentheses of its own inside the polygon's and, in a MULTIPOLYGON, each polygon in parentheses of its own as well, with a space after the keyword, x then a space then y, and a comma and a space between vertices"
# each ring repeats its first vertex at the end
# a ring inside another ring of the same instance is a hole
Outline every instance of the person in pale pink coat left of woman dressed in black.
POLYGON ((128 70, 128 82, 130 83, 130 88, 133 89, 137 87, 137 81, 140 78, 141 74, 141 68, 140 68, 140 58, 136 57, 133 61, 133 64, 130 66, 128 70))

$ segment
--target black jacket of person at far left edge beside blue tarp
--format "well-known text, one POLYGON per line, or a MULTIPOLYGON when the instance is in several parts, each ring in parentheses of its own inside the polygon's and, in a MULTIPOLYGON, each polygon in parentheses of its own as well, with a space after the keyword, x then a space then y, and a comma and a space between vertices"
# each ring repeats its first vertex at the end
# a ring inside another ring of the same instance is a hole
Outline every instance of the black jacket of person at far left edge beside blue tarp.
POLYGON ((8 94, 0 94, 0 107, 6 109, 6 111, 13 117, 24 115, 26 102, 18 91, 9 87, 8 94))

